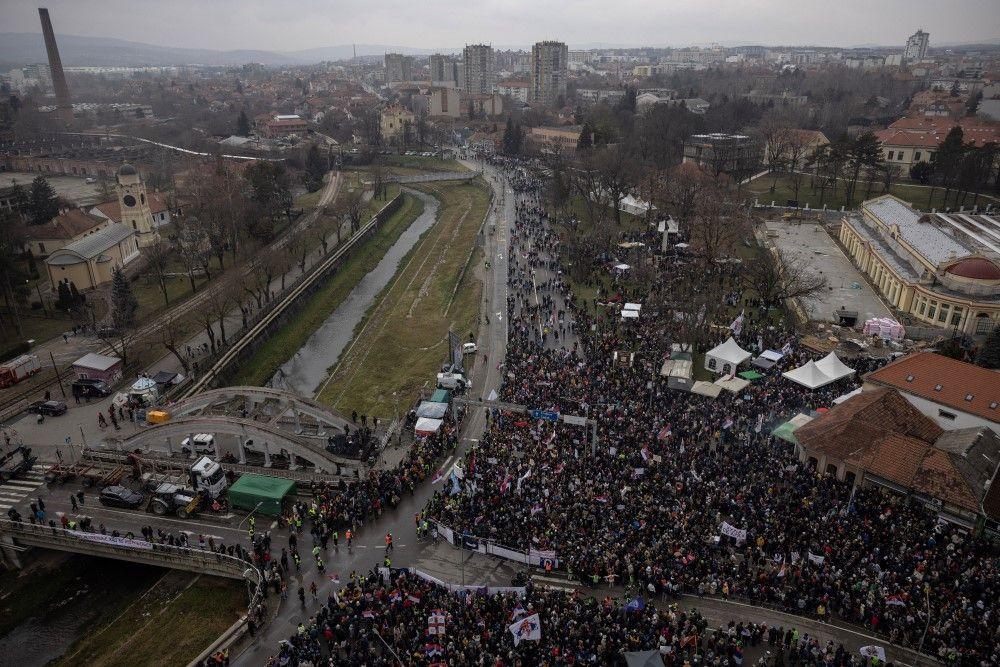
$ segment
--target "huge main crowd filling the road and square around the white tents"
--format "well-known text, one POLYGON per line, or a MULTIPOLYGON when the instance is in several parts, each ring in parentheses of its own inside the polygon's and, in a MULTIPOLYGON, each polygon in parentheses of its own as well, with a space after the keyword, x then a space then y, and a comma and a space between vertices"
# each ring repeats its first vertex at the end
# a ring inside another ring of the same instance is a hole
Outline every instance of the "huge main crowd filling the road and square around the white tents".
MULTIPOLYGON (((528 237, 547 262, 558 252, 544 211, 527 201, 512 266, 528 237)), ((496 415, 466 457, 460 492, 438 491, 431 516, 459 535, 555 551, 558 567, 586 584, 745 598, 861 625, 951 663, 1000 662, 994 550, 915 501, 870 488, 852 496, 770 435, 779 417, 829 406, 857 380, 809 391, 783 379, 810 354, 737 292, 731 302, 749 311, 738 342, 788 354, 739 393, 673 391, 657 372, 670 341, 655 319, 591 327, 570 297, 556 318, 576 323, 580 347, 543 347, 539 325, 554 311, 526 278, 511 273, 501 398, 589 414, 599 445, 592 454, 578 427, 496 415), (746 540, 723 534, 724 523, 746 540)), ((859 376, 879 363, 853 362, 859 376)))

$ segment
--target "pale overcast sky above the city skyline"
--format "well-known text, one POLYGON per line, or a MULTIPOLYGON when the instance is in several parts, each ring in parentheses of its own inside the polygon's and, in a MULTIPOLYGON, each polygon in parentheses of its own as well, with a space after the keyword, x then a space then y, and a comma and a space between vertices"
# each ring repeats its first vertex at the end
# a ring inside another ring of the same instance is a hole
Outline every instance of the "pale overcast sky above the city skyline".
POLYGON ((293 51, 338 44, 902 44, 1000 37, 1000 0, 0 0, 0 31, 293 51))

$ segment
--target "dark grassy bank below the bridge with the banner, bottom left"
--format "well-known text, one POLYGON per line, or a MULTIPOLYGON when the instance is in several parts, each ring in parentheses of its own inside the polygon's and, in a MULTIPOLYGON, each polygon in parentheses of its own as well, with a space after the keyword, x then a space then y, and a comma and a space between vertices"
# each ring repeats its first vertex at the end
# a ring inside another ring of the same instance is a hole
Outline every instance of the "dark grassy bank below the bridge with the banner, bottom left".
POLYGON ((58 667, 184 665, 246 612, 246 586, 231 579, 172 573, 114 618, 92 626, 58 667))

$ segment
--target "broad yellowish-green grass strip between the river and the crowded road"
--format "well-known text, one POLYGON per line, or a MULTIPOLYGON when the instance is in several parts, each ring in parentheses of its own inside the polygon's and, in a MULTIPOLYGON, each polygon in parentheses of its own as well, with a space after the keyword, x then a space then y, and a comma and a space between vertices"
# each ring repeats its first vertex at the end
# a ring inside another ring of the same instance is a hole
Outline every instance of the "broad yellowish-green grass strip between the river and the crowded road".
POLYGON ((365 315, 319 395, 343 414, 392 417, 393 392, 405 407, 422 387, 434 385, 447 358, 448 330, 466 339, 477 329, 482 283, 474 267, 481 254, 473 255, 464 274, 462 267, 470 253, 479 252, 475 239, 489 191, 480 180, 418 187, 441 202, 438 220, 365 315))

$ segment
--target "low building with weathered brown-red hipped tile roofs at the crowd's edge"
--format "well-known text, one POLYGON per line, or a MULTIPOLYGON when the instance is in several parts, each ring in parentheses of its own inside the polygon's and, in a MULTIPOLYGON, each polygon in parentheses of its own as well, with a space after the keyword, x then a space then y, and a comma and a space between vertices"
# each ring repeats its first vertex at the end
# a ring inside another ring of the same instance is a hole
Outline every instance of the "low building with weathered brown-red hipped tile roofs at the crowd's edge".
POLYGON ((912 497, 977 532, 997 530, 1000 437, 989 428, 944 430, 898 390, 877 387, 833 406, 793 436, 800 460, 817 472, 912 497))

